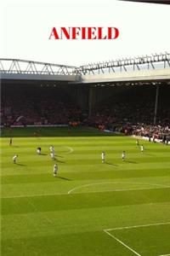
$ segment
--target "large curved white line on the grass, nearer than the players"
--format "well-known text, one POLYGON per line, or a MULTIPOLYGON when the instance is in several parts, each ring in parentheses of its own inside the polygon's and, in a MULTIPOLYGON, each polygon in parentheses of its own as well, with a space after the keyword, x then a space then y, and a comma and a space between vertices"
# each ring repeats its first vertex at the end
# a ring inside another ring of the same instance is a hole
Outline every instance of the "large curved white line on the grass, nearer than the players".
MULTIPOLYGON (((84 184, 82 186, 78 186, 75 187, 71 190, 68 191, 68 194, 71 194, 71 192, 77 190, 77 189, 82 189, 82 188, 86 188, 86 187, 90 187, 90 186, 94 186, 94 185, 102 185, 102 184, 142 184, 142 185, 151 185, 151 186, 162 186, 161 189, 163 188, 170 188, 170 186, 167 185, 163 185, 163 184, 153 184, 153 183, 122 183, 122 182, 106 182, 106 183, 88 183, 88 184, 84 184)), ((147 188, 146 188, 147 189, 147 188)), ((110 191, 133 191, 133 190, 143 190, 143 189, 114 189, 114 190, 110 190, 110 191)))

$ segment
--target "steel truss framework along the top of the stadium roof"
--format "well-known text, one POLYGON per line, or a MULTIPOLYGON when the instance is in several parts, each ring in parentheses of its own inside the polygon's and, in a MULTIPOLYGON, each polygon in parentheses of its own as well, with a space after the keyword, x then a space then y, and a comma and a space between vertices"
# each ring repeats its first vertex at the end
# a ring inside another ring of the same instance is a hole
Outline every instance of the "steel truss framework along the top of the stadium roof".
POLYGON ((24 61, 17 59, 0 59, 0 73, 9 75, 86 75, 106 74, 117 72, 135 72, 142 70, 170 69, 170 54, 143 55, 136 58, 123 58, 112 61, 88 63, 80 67, 45 63, 38 61, 24 61))

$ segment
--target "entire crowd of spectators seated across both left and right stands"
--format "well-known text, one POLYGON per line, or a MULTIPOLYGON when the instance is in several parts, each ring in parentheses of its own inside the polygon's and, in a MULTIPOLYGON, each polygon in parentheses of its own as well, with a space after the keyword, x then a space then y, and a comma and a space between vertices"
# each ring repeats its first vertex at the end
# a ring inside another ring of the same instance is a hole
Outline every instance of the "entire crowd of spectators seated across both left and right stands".
POLYGON ((120 94, 99 102, 88 112, 71 99, 35 93, 5 98, 1 103, 1 125, 88 125, 109 130, 166 140, 170 136, 168 99, 160 101, 154 123, 155 97, 150 94, 120 94))

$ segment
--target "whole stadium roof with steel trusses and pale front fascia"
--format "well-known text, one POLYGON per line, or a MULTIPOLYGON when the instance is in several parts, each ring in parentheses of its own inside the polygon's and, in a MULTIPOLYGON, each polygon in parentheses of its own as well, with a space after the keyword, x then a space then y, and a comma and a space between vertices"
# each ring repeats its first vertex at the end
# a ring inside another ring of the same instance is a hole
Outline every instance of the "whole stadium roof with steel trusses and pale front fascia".
POLYGON ((170 81, 170 54, 143 55, 80 67, 0 59, 0 75, 3 80, 65 81, 74 84, 170 81))

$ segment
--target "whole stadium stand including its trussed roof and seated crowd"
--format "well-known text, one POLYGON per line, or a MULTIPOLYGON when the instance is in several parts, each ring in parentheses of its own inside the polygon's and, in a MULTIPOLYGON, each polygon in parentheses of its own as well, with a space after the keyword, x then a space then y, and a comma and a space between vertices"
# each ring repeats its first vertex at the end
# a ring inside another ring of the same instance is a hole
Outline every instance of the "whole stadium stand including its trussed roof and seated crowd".
POLYGON ((170 55, 68 67, 1 59, 1 125, 86 125, 165 143, 170 55), (26 66, 26 65, 27 66, 26 66))

